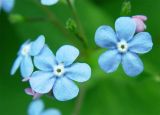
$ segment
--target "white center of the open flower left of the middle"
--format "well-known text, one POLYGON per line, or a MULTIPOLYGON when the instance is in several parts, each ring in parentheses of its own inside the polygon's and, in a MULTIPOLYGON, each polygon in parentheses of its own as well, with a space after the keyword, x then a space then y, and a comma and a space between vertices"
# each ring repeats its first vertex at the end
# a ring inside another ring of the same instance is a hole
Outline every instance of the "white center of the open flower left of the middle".
POLYGON ((57 77, 61 77, 65 72, 65 68, 63 64, 59 64, 54 67, 53 73, 57 77))

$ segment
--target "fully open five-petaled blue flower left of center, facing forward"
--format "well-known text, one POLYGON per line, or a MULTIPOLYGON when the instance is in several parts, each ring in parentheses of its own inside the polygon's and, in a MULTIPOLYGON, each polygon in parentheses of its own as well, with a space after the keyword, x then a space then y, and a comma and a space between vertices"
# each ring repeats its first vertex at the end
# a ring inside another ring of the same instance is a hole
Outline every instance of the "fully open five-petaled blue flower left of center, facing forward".
POLYGON ((34 57, 35 66, 40 69, 32 74, 31 88, 40 94, 53 92, 59 101, 70 100, 78 95, 79 88, 72 81, 85 82, 91 76, 91 68, 86 63, 74 63, 79 50, 70 45, 62 46, 56 53, 45 46, 34 57))

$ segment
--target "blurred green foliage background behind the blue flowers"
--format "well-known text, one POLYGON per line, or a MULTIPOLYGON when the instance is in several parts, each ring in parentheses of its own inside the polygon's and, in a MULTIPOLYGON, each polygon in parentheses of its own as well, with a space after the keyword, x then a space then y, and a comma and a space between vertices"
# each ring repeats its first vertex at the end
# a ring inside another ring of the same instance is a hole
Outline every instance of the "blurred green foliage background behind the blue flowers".
MULTIPOLYGON (((103 24, 114 27, 122 3, 123 0, 75 0, 91 49, 96 47, 96 29, 103 24)), ((131 15, 143 14, 148 17, 147 31, 154 42, 153 50, 141 56, 144 72, 130 78, 120 67, 112 74, 105 74, 97 64, 98 56, 104 50, 89 50, 87 61, 92 67, 92 78, 79 84, 79 97, 59 102, 44 96, 42 99, 47 108, 58 108, 62 115, 160 115, 160 0, 131 0, 131 3, 131 15)), ((16 0, 11 12, 30 19, 25 22, 10 23, 8 15, 0 13, 0 115, 27 115, 28 105, 32 101, 32 97, 24 93, 28 83, 21 82, 19 72, 14 77, 9 74, 16 53, 25 40, 44 34, 53 52, 63 44, 81 48, 81 44, 73 42, 75 38, 63 35, 51 21, 47 21, 48 15, 44 9, 54 13, 63 25, 71 17, 65 3, 44 8, 34 0, 16 0), (34 20, 35 17, 47 20, 34 20)))

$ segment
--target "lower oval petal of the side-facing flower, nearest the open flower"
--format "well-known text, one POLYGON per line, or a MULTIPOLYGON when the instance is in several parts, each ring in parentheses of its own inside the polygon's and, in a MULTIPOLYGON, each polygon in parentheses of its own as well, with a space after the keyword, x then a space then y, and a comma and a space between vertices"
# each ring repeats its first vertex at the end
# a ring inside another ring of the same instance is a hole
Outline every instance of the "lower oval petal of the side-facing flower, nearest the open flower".
POLYGON ((30 56, 25 56, 21 62, 20 70, 22 77, 30 77, 33 72, 33 63, 30 56))

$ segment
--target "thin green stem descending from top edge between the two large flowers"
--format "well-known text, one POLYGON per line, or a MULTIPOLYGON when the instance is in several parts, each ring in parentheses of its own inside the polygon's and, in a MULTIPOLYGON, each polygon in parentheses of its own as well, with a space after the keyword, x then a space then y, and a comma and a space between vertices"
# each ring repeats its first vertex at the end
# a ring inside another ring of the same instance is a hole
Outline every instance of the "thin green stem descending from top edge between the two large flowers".
POLYGON ((79 29, 79 32, 76 33, 76 36, 83 42, 85 47, 88 47, 87 37, 84 34, 84 30, 83 30, 82 24, 79 20, 79 17, 77 15, 77 12, 76 12, 76 10, 70 0, 67 0, 67 3, 68 3, 69 8, 71 9, 72 15, 73 15, 73 17, 77 23, 78 29, 79 29))

